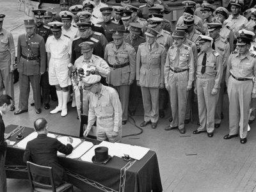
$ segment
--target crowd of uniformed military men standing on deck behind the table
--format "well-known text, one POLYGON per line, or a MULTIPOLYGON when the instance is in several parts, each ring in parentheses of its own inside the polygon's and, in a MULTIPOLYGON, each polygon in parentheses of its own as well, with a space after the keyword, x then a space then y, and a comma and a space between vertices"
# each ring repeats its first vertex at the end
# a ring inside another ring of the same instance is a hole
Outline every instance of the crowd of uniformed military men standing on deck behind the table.
MULTIPOLYGON (((30 83, 36 113, 41 113, 41 102, 45 109, 50 108, 51 97, 58 99, 58 106, 50 113, 61 111, 61 116, 66 116, 67 103, 73 100, 72 107, 77 106, 80 118, 79 87, 84 82, 79 81, 79 76, 84 74, 92 76, 83 90, 83 113, 89 114, 89 121, 92 112, 93 118, 96 115, 101 119, 103 113, 108 113, 108 117, 119 113, 118 120, 113 121, 121 120, 118 126, 122 127, 128 113, 136 112, 141 94, 141 127, 151 124, 155 129, 170 100, 171 124, 165 130, 178 129, 184 134, 196 101, 199 127, 193 134, 207 132, 212 137, 223 118, 223 94, 227 87, 229 133, 224 139, 240 136, 240 142, 246 143, 249 118, 250 122, 255 118, 256 9, 250 8, 244 17, 243 0, 230 0, 230 12, 212 3, 204 1, 198 6, 184 1, 184 13, 173 31, 170 21, 163 19, 163 13, 170 13, 170 8, 162 0, 148 0, 139 8, 132 6, 130 0, 113 7, 100 0, 86 0, 69 7, 68 0, 60 0, 58 15, 33 10, 35 19, 24 20, 26 33, 18 40, 20 95, 19 109, 14 114, 28 111, 30 83), (104 96, 97 103, 91 100, 89 91, 98 81, 105 88, 100 93, 93 92, 99 99, 100 94, 104 96), (118 92, 122 110, 115 108, 118 97, 105 97, 109 92, 106 85, 118 92), (109 105, 113 105, 113 111, 109 105)), ((3 93, 5 88, 14 97, 15 49, 12 34, 2 28, 4 16, 0 15, 0 91, 3 93)), ((113 130, 113 124, 108 122, 101 126, 112 126, 113 130)), ((116 130, 122 134, 122 129, 116 130)), ((107 133, 106 137, 98 137, 106 138, 107 133)))

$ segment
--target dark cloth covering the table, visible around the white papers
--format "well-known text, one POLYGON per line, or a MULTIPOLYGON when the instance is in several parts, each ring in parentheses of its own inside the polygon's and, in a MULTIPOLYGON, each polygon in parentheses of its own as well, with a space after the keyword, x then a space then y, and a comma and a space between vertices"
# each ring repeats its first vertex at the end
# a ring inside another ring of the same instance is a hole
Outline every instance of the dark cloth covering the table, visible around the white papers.
MULTIPOLYGON (((18 125, 8 125, 6 133, 18 125)), ((28 136, 34 129, 25 127, 22 135, 28 136)), ((55 133, 65 136, 65 134, 55 133)), ((19 132, 10 140, 16 140, 19 132)), ((81 138, 82 139, 82 138, 81 138)), ((85 139, 98 145, 100 141, 85 139)), ((6 177, 10 179, 28 179, 26 163, 23 163, 24 150, 13 146, 7 147, 6 177)), ((82 191, 120 191, 120 192, 159 192, 163 191, 156 152, 149 151, 140 161, 124 161, 114 156, 108 164, 93 164, 81 159, 58 157, 59 163, 67 171, 68 180, 82 191)))

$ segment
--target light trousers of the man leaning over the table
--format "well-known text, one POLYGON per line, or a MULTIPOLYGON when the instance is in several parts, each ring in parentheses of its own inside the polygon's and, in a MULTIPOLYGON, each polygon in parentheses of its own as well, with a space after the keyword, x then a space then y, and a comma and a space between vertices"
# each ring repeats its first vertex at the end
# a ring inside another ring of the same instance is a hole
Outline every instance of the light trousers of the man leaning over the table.
POLYGON ((97 118, 96 136, 97 140, 109 141, 111 143, 121 143, 122 140, 122 124, 118 136, 113 136, 114 119, 113 118, 97 118))

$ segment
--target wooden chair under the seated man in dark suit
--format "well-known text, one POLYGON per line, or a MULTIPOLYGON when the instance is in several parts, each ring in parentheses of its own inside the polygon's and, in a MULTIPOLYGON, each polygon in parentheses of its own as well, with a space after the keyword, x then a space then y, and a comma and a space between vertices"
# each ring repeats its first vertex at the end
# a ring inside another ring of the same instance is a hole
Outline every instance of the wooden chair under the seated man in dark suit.
POLYGON ((57 188, 54 186, 54 179, 52 175, 52 168, 49 166, 40 166, 35 163, 27 161, 28 166, 28 177, 31 185, 31 192, 62 192, 62 191, 73 191, 72 184, 62 184, 57 188), (48 177, 51 180, 52 185, 42 184, 33 180, 32 175, 38 175, 41 177, 48 177))

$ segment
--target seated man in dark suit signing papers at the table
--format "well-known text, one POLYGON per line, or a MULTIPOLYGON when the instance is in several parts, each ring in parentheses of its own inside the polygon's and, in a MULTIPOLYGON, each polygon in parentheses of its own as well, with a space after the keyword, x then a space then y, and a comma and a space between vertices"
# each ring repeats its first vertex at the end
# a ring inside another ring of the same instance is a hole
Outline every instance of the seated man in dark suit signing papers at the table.
MULTIPOLYGON (((31 161, 33 163, 52 167, 55 186, 60 186, 65 177, 65 170, 58 164, 57 152, 63 154, 71 154, 73 147, 72 138, 68 140, 67 145, 63 145, 56 138, 47 137, 47 120, 45 118, 38 118, 34 122, 35 131, 38 133, 37 138, 28 142, 24 152, 23 161, 31 161)), ((36 181, 44 184, 51 184, 50 180, 45 177, 33 176, 36 181)))

